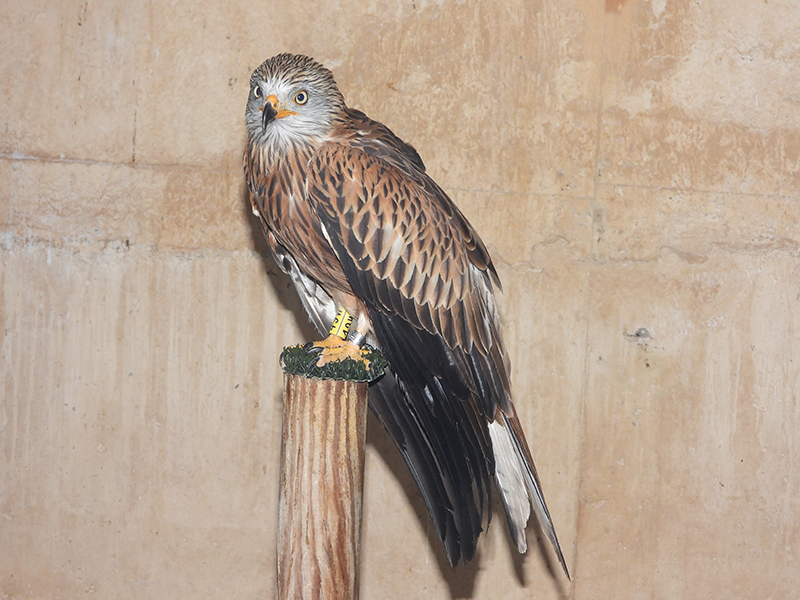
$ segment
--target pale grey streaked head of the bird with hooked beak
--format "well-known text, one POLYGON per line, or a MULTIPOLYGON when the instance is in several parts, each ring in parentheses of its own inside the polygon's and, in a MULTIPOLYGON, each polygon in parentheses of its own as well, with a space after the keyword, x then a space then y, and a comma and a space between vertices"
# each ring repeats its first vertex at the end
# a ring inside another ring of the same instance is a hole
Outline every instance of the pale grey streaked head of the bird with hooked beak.
POLYGON ((250 77, 247 133, 251 143, 280 151, 324 138, 343 109, 328 69, 307 56, 279 54, 250 77))

